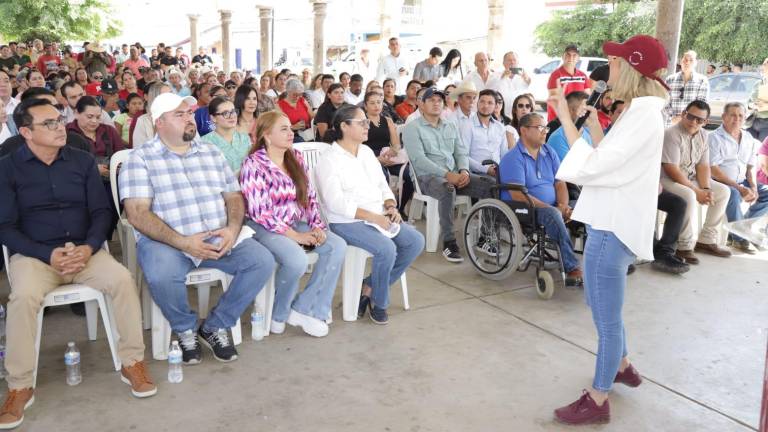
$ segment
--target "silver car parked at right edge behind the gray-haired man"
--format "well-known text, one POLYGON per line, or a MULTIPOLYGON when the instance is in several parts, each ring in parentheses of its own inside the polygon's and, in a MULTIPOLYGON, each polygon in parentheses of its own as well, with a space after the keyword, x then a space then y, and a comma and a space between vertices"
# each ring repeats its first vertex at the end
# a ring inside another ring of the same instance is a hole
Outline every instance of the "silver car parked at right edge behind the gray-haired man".
POLYGON ((716 129, 723 123, 723 107, 728 102, 741 102, 746 107, 760 80, 760 74, 752 72, 729 72, 710 77, 707 102, 712 113, 707 129, 716 129))

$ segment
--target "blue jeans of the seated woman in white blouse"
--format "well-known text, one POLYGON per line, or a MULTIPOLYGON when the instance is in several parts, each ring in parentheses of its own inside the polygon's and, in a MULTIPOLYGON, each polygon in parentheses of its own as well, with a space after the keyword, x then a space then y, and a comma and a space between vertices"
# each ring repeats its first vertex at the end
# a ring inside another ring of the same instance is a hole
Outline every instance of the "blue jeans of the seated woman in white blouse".
POLYGON ((371 287, 371 300, 376 307, 389 307, 389 287, 424 250, 424 236, 407 223, 401 223, 400 232, 391 239, 363 222, 331 224, 331 231, 350 246, 373 255, 371 274, 363 283, 371 287))

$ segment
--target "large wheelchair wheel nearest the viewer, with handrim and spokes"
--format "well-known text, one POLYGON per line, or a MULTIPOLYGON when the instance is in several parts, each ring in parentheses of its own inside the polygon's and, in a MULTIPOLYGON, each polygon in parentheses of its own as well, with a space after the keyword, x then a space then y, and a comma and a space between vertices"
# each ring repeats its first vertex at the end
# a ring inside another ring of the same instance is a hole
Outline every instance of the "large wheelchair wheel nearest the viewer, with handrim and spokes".
POLYGON ((464 222, 464 248, 483 277, 502 280, 517 270, 525 237, 509 206, 496 199, 475 204, 464 222))

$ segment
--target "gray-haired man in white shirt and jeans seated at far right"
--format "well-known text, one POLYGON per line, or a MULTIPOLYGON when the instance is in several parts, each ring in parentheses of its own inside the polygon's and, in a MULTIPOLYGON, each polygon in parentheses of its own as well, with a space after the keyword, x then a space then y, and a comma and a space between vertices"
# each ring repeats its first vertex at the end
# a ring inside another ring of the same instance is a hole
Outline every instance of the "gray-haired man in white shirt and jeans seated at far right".
MULTIPOLYGON (((725 215, 729 222, 758 217, 768 212, 768 186, 758 188, 755 179, 757 149, 760 142, 743 130, 747 109, 740 102, 723 108, 723 124, 709 135, 709 162, 712 178, 730 187, 725 215), (741 202, 751 204, 746 213, 741 202)), ((732 244, 743 252, 754 253, 748 240, 731 235, 732 244)))

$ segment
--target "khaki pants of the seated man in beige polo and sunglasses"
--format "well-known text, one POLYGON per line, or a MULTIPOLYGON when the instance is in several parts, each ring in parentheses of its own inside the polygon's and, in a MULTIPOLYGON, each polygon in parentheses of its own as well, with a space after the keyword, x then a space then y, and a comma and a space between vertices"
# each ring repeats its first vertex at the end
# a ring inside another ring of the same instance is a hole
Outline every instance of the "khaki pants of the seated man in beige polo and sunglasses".
MULTIPOLYGON (((693 181, 698 187, 698 182, 693 181)), ((688 208, 685 210, 685 219, 683 220, 683 228, 680 229, 680 237, 677 240, 677 248, 679 250, 693 250, 696 245, 696 238, 693 235, 693 224, 691 223, 693 212, 698 209, 700 205, 696 201, 696 193, 693 189, 683 186, 680 183, 675 183, 668 178, 661 179, 661 186, 667 192, 671 192, 680 196, 688 203, 688 208)), ((714 180, 709 181, 709 187, 714 195, 714 204, 707 206, 707 215, 704 219, 704 225, 701 228, 701 232, 698 236, 698 242, 703 244, 717 244, 720 234, 720 226, 725 222, 725 207, 728 205, 728 198, 731 196, 728 186, 718 183, 714 180)))

